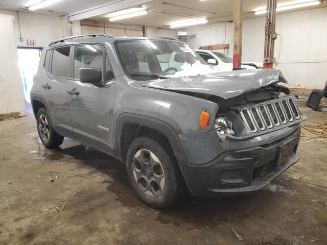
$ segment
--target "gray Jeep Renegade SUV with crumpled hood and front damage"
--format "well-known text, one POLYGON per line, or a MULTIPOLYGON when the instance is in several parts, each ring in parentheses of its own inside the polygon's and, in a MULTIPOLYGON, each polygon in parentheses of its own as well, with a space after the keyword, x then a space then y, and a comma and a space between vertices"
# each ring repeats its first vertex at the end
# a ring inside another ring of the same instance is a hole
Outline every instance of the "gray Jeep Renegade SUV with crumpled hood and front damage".
POLYGON ((162 208, 183 186, 197 197, 261 189, 299 160, 307 117, 281 83, 275 69, 214 73, 172 38, 94 33, 42 52, 31 101, 46 148, 67 136, 113 156, 162 208))

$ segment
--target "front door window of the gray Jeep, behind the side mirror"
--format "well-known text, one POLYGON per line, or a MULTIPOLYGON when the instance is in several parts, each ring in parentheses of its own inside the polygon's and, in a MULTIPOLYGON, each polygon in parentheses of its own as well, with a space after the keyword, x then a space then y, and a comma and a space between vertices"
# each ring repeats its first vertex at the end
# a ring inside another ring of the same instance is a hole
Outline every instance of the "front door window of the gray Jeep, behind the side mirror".
MULTIPOLYGON (((85 44, 75 46, 74 51, 74 78, 80 79, 81 67, 97 67, 104 74, 103 46, 85 44)), ((104 76, 102 76, 103 78, 104 76)))

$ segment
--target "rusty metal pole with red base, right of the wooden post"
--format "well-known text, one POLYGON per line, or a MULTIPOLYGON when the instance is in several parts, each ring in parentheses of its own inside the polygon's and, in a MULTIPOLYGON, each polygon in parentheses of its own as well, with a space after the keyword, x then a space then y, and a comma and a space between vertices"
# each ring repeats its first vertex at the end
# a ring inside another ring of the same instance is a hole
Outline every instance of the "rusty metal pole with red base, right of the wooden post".
POLYGON ((277 0, 267 0, 267 16, 265 25, 264 68, 273 68, 274 47, 277 33, 275 33, 277 0))

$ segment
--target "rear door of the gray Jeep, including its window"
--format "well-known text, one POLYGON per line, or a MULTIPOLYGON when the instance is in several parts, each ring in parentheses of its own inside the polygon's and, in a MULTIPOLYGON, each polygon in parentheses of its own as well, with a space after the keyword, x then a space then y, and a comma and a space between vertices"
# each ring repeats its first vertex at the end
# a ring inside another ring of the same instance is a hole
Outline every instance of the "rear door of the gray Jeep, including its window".
POLYGON ((71 46, 46 51, 44 79, 40 95, 46 101, 49 116, 57 133, 72 136, 73 127, 67 104, 67 83, 71 78, 71 46))

